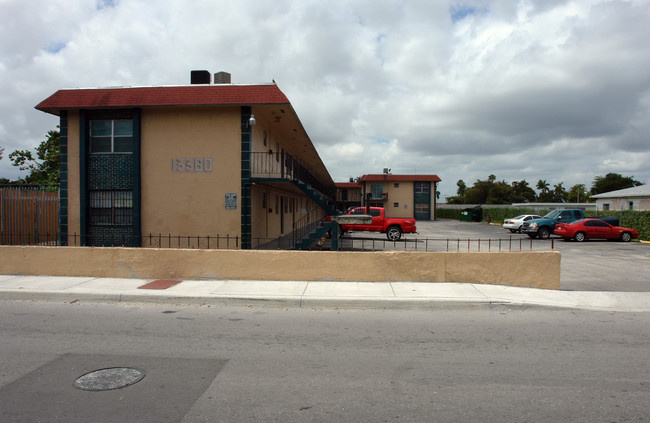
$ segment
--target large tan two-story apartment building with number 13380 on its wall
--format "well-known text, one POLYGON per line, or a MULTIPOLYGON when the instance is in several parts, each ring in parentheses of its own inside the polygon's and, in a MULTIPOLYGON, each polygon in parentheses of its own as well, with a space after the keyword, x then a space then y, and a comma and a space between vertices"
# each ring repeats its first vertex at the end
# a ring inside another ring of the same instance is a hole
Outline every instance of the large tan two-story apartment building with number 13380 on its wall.
POLYGON ((62 243, 257 248, 331 212, 334 182, 284 93, 217 76, 62 89, 36 106, 60 118, 62 243))

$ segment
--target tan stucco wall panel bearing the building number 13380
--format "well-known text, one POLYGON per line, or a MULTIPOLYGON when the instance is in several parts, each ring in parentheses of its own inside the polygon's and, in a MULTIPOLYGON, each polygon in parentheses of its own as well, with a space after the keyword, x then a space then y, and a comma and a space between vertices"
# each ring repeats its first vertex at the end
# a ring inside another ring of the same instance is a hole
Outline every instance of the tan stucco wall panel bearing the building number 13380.
POLYGON ((142 234, 241 236, 238 107, 142 112, 142 234), (209 171, 174 169, 174 159, 211 160, 209 171), (225 194, 237 195, 227 210, 225 194))

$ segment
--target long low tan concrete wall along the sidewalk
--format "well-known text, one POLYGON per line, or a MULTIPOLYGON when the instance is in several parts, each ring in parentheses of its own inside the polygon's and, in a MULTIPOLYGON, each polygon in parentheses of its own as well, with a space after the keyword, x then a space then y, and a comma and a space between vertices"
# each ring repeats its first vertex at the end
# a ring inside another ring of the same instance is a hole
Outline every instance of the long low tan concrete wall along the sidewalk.
POLYGON ((141 279, 471 282, 560 288, 560 253, 0 246, 0 274, 141 279))

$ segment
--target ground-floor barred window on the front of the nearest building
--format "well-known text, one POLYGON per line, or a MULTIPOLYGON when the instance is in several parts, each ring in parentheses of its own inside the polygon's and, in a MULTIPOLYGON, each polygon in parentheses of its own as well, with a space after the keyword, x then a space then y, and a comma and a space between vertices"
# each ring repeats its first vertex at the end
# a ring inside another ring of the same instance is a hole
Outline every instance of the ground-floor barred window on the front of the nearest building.
POLYGON ((91 225, 133 225, 133 191, 90 191, 91 225))

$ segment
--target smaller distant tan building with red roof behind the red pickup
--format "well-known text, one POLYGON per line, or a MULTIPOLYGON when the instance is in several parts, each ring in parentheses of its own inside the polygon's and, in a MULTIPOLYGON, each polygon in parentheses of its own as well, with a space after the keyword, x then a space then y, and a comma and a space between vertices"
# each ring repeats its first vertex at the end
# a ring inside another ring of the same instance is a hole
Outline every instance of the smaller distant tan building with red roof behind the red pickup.
POLYGON ((363 175, 358 183, 337 183, 340 209, 365 206, 383 207, 389 217, 435 220, 437 175, 393 175, 388 172, 363 175))

